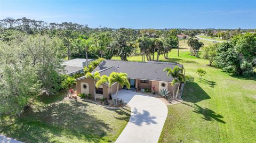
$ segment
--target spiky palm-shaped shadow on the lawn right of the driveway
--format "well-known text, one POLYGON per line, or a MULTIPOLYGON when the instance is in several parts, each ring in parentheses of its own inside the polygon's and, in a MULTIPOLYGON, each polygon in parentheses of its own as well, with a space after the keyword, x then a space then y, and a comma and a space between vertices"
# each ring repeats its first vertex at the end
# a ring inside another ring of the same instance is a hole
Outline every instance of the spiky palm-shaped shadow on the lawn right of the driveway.
POLYGON ((209 108, 203 108, 201 106, 198 106, 197 104, 194 104, 195 106, 187 104, 187 103, 182 103, 182 104, 193 107, 195 109, 193 112, 204 115, 204 117, 202 117, 202 119, 204 119, 204 120, 207 120, 207 121, 215 120, 215 121, 218 121, 221 123, 226 123, 225 121, 221 120, 221 118, 223 118, 222 115, 215 113, 214 111, 210 110, 209 108))

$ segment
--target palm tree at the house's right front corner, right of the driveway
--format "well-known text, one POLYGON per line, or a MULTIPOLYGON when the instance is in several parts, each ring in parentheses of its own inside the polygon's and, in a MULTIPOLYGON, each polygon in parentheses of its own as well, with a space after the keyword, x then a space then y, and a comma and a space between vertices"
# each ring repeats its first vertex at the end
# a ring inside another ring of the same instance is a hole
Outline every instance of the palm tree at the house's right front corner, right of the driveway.
POLYGON ((175 94, 174 94, 174 86, 175 83, 178 82, 178 77, 179 77, 179 73, 182 72, 182 68, 180 68, 179 66, 175 66, 173 69, 171 68, 165 68, 164 72, 167 71, 167 76, 171 76, 173 78, 172 80, 172 97, 173 99, 175 98, 175 94))

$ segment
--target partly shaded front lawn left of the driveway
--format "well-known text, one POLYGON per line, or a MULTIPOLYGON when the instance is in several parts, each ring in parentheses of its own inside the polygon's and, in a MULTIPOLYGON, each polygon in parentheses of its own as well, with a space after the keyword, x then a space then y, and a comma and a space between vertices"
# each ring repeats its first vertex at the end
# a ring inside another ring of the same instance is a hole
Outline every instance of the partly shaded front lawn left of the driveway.
POLYGON ((65 92, 44 97, 20 119, 2 118, 0 133, 23 142, 114 142, 130 119, 130 109, 107 110, 64 97, 65 92))

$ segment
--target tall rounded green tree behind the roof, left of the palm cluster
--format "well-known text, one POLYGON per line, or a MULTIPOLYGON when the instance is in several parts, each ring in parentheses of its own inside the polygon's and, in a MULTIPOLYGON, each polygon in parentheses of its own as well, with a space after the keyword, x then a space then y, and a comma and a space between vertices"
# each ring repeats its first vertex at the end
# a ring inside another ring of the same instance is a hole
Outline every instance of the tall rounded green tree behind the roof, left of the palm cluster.
POLYGON ((127 56, 130 56, 135 51, 136 31, 133 29, 120 28, 116 31, 114 41, 117 44, 117 55, 121 60, 127 61, 127 56))

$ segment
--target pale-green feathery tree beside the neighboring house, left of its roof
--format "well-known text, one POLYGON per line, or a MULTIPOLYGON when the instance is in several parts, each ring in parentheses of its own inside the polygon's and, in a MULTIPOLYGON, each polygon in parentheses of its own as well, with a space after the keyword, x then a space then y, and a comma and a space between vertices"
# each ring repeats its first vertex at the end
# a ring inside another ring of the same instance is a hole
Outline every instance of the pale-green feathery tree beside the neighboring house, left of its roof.
POLYGON ((61 57, 58 51, 62 46, 59 38, 48 36, 29 36, 21 43, 24 54, 31 60, 35 68, 42 91, 46 95, 56 94, 60 90, 60 74, 63 71, 61 57))

